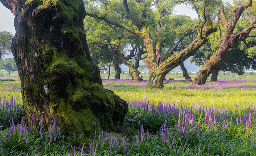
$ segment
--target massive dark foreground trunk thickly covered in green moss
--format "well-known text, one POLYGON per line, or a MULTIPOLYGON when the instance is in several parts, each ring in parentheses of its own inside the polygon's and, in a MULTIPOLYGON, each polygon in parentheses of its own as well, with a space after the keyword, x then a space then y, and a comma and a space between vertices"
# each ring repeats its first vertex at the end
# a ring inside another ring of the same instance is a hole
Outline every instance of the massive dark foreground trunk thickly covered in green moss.
POLYGON ((99 69, 89 62, 82 0, 1 0, 15 15, 12 53, 19 69, 22 122, 32 115, 62 132, 93 137, 117 129, 127 103, 104 89, 99 69))

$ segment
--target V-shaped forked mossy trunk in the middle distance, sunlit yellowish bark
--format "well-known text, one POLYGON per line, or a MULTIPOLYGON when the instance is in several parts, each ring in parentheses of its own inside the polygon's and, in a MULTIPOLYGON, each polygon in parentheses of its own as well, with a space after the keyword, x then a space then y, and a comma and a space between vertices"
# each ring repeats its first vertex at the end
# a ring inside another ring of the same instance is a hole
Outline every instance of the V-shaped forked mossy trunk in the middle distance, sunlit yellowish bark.
POLYGON ((153 51, 153 41, 149 37, 144 38, 144 43, 147 48, 147 66, 150 70, 149 80, 147 87, 149 88, 163 88, 163 79, 165 76, 175 67, 179 66, 189 57, 193 56, 196 51, 207 42, 207 37, 217 31, 216 27, 212 23, 206 22, 202 28, 202 35, 198 34, 197 38, 193 42, 184 48, 179 53, 175 53, 172 57, 167 58, 160 65, 156 63, 156 55, 153 51))

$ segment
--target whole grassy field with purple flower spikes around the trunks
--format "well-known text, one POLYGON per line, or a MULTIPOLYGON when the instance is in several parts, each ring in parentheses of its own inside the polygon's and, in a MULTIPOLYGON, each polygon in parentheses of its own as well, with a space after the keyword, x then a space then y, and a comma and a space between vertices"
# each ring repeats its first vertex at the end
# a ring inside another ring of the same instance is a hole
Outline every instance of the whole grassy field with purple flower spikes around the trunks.
POLYGON ((101 132, 88 141, 64 137, 55 124, 42 129, 43 117, 21 125, 20 82, 0 81, 0 155, 255 155, 255 81, 166 81, 164 89, 146 84, 103 79, 129 111, 121 134, 101 132))

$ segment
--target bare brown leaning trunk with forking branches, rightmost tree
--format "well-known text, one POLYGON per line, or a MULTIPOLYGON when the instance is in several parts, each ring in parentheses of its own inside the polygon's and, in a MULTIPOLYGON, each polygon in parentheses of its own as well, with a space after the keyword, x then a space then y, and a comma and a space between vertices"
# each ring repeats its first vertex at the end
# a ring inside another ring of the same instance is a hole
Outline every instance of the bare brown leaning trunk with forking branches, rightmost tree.
MULTIPOLYGON (((240 31, 239 33, 233 33, 233 31, 235 29, 237 21, 239 20, 244 10, 250 6, 252 6, 252 0, 248 0, 248 2, 245 5, 238 5, 238 7, 233 10, 233 18, 231 19, 230 24, 228 24, 224 16, 224 6, 221 3, 219 10, 219 19, 221 19, 221 22, 225 28, 224 38, 223 41, 221 42, 219 50, 217 50, 216 53, 214 53, 214 55, 210 57, 210 60, 206 60, 205 64, 202 65, 194 84, 205 84, 207 78, 213 72, 213 69, 217 68, 219 63, 221 63, 221 61, 223 60, 224 55, 226 55, 230 48, 235 46, 235 43, 237 43, 238 41, 244 41, 245 45, 247 45, 245 39, 249 37, 251 30, 253 28, 256 28, 256 20, 254 19, 251 26, 247 27, 247 29, 245 29, 244 31, 240 31)), ((250 47, 249 45, 247 46, 250 47)))

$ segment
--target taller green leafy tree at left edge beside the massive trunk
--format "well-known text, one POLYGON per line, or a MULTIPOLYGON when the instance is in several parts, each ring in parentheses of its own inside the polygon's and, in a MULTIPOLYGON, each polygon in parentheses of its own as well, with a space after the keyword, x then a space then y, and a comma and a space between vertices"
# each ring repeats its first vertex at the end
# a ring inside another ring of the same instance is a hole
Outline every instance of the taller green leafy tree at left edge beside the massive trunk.
POLYGON ((9 55, 12 48, 12 38, 14 36, 7 31, 0 31, 0 60, 4 55, 9 55))

